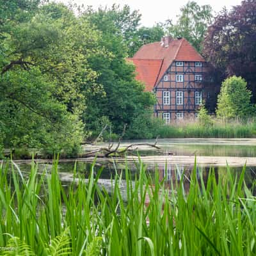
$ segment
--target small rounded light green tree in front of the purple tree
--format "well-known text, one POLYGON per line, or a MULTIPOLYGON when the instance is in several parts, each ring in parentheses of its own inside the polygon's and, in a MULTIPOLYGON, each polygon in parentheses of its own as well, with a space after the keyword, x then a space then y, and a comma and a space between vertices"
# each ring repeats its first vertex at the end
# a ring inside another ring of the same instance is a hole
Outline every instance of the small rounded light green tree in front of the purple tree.
POLYGON ((250 103, 252 93, 246 88, 242 77, 228 77, 221 84, 216 114, 221 118, 244 118, 253 113, 250 103))

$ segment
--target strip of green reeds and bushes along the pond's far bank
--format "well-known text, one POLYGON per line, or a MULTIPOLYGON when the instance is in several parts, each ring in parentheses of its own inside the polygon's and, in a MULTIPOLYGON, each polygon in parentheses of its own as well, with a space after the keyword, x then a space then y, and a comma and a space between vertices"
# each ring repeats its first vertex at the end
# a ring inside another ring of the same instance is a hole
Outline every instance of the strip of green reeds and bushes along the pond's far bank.
POLYGON ((138 118, 131 131, 128 129, 127 138, 256 138, 255 119, 222 120, 209 116, 207 111, 202 121, 199 118, 172 124, 163 124, 156 118, 153 121, 156 123, 138 118), (150 129, 145 128, 146 124, 150 129))

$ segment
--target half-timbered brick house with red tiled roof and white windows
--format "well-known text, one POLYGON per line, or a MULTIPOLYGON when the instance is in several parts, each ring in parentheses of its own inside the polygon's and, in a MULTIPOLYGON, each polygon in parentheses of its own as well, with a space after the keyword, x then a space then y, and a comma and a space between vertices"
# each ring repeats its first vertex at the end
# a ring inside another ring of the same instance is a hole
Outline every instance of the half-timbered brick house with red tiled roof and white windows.
POLYGON ((207 64, 186 39, 164 36, 143 45, 129 60, 136 66, 136 79, 156 93, 154 116, 166 123, 196 117, 206 96, 202 82, 207 64))

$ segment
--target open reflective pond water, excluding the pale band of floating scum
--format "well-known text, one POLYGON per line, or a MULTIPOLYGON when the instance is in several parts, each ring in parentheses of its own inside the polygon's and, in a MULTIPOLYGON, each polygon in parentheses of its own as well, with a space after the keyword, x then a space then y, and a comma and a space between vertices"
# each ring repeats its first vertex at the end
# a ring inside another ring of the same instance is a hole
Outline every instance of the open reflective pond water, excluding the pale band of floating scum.
MULTIPOLYGON (((124 141, 120 147, 125 147, 131 143, 152 143, 154 140, 140 140, 140 141, 124 141)), ((161 139, 157 142, 157 146, 161 147, 161 150, 152 150, 152 148, 138 148, 138 154, 144 156, 159 156, 159 154, 165 154, 172 152, 175 156, 230 156, 230 157, 255 157, 256 156, 256 140, 255 139, 161 139)), ((84 150, 90 150, 90 148, 84 148, 84 150)), ((139 175, 138 168, 136 168, 136 161, 129 162, 128 167, 131 170, 132 179, 136 175, 139 175)), ((74 172, 75 161, 69 163, 59 163, 58 168, 61 177, 65 182, 68 179, 72 180, 72 173, 74 172)), ((147 163, 146 163, 147 164, 147 163)), ((29 173, 30 164, 19 164, 20 170, 24 173, 29 173)), ((39 163, 39 172, 48 170, 51 172, 52 164, 39 163)), ((85 179, 88 178, 90 173, 91 164, 88 161, 81 161, 76 163, 77 173, 85 179)), ((100 175, 100 180, 104 186, 111 186, 111 177, 113 178, 116 173, 121 175, 122 170, 125 168, 125 161, 106 161, 98 162, 95 165, 95 172, 103 168, 103 172, 100 175)), ((159 172, 159 179, 165 178, 167 181, 173 179, 179 180, 182 173, 189 177, 191 170, 194 166, 191 164, 166 164, 166 161, 157 164, 147 164, 148 173, 154 174, 159 172)), ((196 173, 203 172, 204 179, 207 179, 207 173, 212 166, 198 167, 196 173)), ((239 174, 243 166, 231 167, 230 169, 234 174, 239 174)), ((224 179, 226 173, 226 167, 215 165, 214 171, 218 175, 218 179, 224 179)), ((122 173, 124 177, 124 172, 122 173)), ((199 174, 198 174, 199 176, 199 174)), ((246 167, 245 180, 248 185, 252 184, 256 178, 256 166, 246 167)))

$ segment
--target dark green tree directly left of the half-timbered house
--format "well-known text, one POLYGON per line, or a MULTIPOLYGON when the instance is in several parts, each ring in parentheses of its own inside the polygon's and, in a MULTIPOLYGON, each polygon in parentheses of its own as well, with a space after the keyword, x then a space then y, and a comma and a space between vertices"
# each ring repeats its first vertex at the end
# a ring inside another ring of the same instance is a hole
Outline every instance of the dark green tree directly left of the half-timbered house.
POLYGON ((131 125, 134 116, 152 108, 154 95, 144 92, 144 86, 136 81, 134 66, 125 61, 127 44, 118 26, 112 19, 112 12, 85 13, 88 20, 101 33, 100 47, 107 54, 92 54, 88 59, 90 67, 99 74, 96 79, 103 91, 88 97, 84 111, 84 123, 90 131, 99 132, 99 124, 109 122, 113 132, 122 133, 124 124, 131 125), (110 17, 109 17, 110 15, 110 17))

